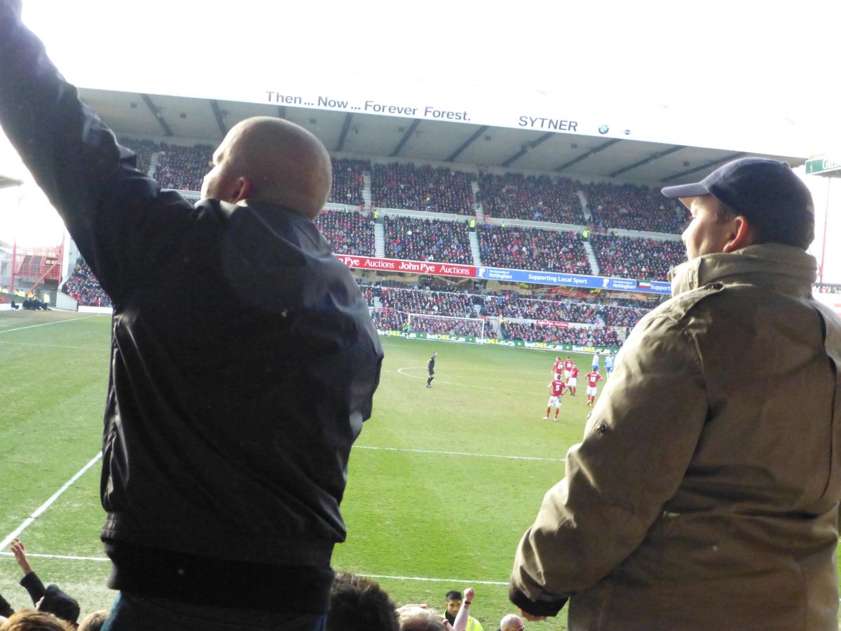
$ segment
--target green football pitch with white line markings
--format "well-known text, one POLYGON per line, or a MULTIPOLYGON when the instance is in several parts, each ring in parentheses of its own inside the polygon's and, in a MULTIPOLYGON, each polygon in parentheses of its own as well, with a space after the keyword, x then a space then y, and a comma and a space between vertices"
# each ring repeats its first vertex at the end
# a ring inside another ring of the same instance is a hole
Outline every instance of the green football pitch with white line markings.
MULTIPOLYGON (((0 314, 0 593, 13 607, 29 605, 8 552, 19 531, 34 570, 82 613, 114 599, 98 501, 110 323, 55 310, 0 314)), ((347 541, 333 565, 375 578, 398 605, 441 608, 447 591, 473 586, 473 616, 493 631, 514 611, 516 544, 582 436, 585 388, 563 397, 560 422, 545 422, 554 354, 401 337, 383 337, 383 349, 373 416, 351 454, 347 541)), ((589 371, 590 355, 570 355, 589 371)), ((565 621, 564 611, 528 626, 565 621)))

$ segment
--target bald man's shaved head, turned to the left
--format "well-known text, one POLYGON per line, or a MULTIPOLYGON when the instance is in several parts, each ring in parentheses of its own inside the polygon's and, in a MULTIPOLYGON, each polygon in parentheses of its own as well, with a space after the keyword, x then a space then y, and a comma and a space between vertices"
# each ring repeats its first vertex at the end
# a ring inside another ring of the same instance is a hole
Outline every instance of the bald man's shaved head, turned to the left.
POLYGON ((288 120, 256 116, 234 125, 214 152, 202 197, 286 206, 315 219, 330 196, 330 155, 288 120))

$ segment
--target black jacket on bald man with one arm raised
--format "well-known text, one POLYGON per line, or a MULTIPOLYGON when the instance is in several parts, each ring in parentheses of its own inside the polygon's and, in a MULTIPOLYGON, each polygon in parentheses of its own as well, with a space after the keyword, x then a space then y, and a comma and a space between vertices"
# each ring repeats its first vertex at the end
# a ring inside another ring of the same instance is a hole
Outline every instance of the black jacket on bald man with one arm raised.
POLYGON ((161 191, 4 2, 0 124, 114 301, 103 537, 329 562, 383 353, 315 224, 161 191))

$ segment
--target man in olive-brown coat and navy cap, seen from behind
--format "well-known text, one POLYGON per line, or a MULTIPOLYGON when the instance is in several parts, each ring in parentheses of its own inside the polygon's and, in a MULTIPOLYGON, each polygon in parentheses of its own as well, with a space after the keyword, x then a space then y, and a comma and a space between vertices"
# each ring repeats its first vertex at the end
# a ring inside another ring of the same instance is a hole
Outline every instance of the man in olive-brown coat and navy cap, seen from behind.
POLYGON ((570 629, 838 629, 841 321, 812 300, 788 165, 664 188, 690 209, 673 298, 616 357, 521 540, 526 618, 570 629))

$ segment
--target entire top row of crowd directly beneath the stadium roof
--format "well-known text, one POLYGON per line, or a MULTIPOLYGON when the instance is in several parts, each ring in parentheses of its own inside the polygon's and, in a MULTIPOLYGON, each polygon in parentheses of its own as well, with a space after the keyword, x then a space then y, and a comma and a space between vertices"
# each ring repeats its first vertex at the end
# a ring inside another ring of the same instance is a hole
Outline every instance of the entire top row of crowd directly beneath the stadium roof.
MULTIPOLYGON (((154 175, 166 188, 200 190, 213 155, 208 145, 186 147, 135 139, 124 142, 135 149, 138 167, 144 172, 148 172, 152 154, 159 154, 154 175)), ((474 203, 481 203, 484 215, 500 219, 671 234, 682 231, 687 220, 685 209, 674 200, 632 184, 580 183, 547 175, 454 171, 352 158, 334 158, 332 162, 329 201, 335 204, 364 204, 362 190, 368 172, 371 204, 378 208, 473 215, 474 203), (587 200, 590 218, 584 215, 579 192, 587 200)))

